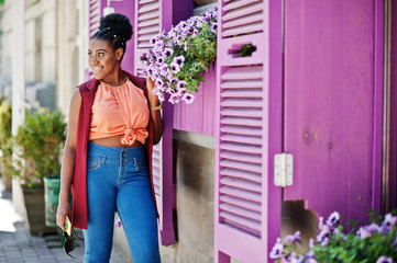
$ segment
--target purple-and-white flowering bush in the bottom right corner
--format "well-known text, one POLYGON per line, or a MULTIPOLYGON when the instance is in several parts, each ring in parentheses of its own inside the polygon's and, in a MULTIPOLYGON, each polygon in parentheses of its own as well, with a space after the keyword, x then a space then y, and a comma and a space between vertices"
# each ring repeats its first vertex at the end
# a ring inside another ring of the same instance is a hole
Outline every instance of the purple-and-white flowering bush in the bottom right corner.
MULTIPOLYGON (((300 232, 277 239, 271 258, 276 262, 294 263, 393 263, 397 262, 397 217, 387 214, 384 218, 370 210, 370 225, 351 228, 343 233, 339 213, 332 213, 326 224, 320 218, 319 235, 310 240, 310 249, 299 254, 296 243, 300 232)), ((355 224, 353 224, 355 225, 355 224)))

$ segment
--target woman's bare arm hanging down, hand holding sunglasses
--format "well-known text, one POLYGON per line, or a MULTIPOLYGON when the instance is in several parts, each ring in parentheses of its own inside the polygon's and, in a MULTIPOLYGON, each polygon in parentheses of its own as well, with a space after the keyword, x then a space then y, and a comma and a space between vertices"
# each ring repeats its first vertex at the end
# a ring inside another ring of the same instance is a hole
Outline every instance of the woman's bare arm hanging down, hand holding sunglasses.
POLYGON ((71 96, 69 108, 69 121, 67 125, 67 137, 64 148, 64 156, 60 168, 60 191, 59 204, 56 213, 56 224, 65 231, 65 218, 70 216, 71 207, 69 202, 70 185, 76 162, 76 141, 78 115, 80 111, 81 95, 76 89, 71 96))

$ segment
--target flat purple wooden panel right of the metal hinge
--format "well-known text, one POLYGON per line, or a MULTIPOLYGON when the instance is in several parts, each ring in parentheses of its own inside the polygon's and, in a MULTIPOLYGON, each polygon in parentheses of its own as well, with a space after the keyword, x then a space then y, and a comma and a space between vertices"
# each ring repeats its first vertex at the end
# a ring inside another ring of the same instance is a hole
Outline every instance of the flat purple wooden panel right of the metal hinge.
POLYGON ((372 204, 374 0, 286 0, 286 199, 364 220, 372 204), (337 19, 338 18, 338 19, 337 19))

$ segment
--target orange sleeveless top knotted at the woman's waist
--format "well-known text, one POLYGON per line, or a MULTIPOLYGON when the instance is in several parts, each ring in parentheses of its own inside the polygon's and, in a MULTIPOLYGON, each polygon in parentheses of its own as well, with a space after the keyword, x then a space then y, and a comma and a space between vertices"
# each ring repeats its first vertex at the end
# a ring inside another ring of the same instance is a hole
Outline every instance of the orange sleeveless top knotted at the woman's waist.
POLYGON ((145 144, 150 117, 143 91, 130 80, 119 87, 100 82, 91 110, 89 140, 121 135, 121 144, 145 144))

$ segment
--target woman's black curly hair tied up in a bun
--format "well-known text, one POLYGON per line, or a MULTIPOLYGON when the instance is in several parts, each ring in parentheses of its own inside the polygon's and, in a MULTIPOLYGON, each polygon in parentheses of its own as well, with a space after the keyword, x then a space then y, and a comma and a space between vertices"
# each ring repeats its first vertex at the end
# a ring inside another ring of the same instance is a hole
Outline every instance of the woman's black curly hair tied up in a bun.
MULTIPOLYGON (((131 39, 132 26, 129 18, 120 13, 111 13, 100 21, 98 31, 92 35, 92 39, 107 41, 114 50, 120 47, 125 54, 125 42, 131 39)), ((122 59, 122 58, 121 58, 122 59)))

